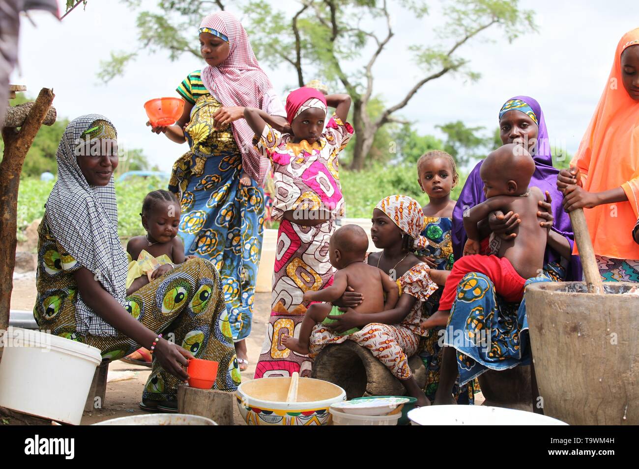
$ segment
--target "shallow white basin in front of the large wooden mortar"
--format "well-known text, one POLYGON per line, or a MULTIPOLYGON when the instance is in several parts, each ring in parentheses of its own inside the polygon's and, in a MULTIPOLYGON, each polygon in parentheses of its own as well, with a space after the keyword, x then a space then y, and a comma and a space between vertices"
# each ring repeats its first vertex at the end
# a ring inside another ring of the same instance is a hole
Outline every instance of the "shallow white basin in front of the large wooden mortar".
POLYGON ((567 425, 525 410, 486 405, 435 405, 408 412, 413 425, 567 425))

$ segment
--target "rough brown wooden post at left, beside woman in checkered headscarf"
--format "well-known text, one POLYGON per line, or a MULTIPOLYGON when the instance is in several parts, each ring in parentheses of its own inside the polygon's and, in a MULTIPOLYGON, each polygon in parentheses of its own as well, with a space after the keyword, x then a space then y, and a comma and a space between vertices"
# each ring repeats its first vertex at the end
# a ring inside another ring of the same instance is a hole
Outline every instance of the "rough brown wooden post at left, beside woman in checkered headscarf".
POLYGON ((5 127, 2 130, 4 155, 0 163, 0 236, 3 248, 0 249, 0 330, 9 325, 9 308, 13 290, 13 267, 15 267, 16 218, 18 212, 18 187, 20 172, 33 144, 36 133, 49 112, 54 94, 43 88, 38 99, 29 111, 22 128, 5 127))

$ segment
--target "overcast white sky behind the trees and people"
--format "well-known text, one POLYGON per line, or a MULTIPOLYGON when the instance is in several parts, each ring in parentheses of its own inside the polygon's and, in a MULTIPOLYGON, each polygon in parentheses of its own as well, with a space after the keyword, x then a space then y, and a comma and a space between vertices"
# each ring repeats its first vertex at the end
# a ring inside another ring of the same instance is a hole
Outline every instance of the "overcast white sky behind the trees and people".
MULTIPOLYGON (((146 3, 151 7, 157 2, 142 0, 146 3)), ((433 29, 444 19, 439 3, 432 3, 431 15, 421 20, 392 9, 395 36, 374 68, 374 93, 383 94, 389 104, 401 100, 421 76, 408 46, 438 40, 433 29)), ((626 31, 639 27, 636 0, 522 0, 521 6, 536 11, 539 33, 522 31, 509 44, 493 29, 484 37, 497 42, 475 41, 460 48, 459 54, 471 59, 470 67, 481 73, 481 79, 473 83, 462 77, 435 80, 397 115, 415 121, 420 132, 434 135, 440 135, 437 124, 456 120, 493 130, 502 103, 527 94, 541 104, 550 138, 565 142, 574 153, 610 73, 617 42, 626 31)), ((26 85, 31 96, 42 87, 52 87, 58 115, 107 115, 123 144, 143 149, 150 161, 170 170, 187 146, 152 134, 144 125, 142 105, 151 98, 176 96, 176 86, 190 71, 201 68, 203 61, 185 55, 171 62, 164 54, 141 54, 123 77, 105 86, 96 78, 99 62, 108 59, 111 50, 135 47, 135 15, 116 0, 89 0, 86 11, 79 7, 61 23, 45 13, 31 17, 36 27, 22 20, 20 68, 13 73, 12 83, 26 85)), ((198 26, 193 25, 194 41, 198 26)), ((263 68, 280 93, 295 85, 291 68, 283 64, 277 70, 263 68)), ((311 70, 305 75, 313 78, 311 70)))

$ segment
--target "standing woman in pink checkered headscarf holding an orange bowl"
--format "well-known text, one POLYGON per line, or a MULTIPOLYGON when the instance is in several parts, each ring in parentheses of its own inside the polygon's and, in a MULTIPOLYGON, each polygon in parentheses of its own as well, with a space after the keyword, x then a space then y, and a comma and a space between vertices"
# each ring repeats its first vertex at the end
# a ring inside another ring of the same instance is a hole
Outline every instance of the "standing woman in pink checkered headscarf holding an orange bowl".
POLYGON ((244 339, 252 322, 264 232, 261 186, 269 162, 254 149, 243 112, 259 108, 278 129, 286 125, 286 112, 233 14, 219 11, 204 18, 199 42, 206 66, 177 88, 186 101, 183 115, 176 125, 153 131, 189 142, 169 181, 181 203, 180 236, 186 255, 206 258, 220 272, 239 366, 246 369, 244 339))

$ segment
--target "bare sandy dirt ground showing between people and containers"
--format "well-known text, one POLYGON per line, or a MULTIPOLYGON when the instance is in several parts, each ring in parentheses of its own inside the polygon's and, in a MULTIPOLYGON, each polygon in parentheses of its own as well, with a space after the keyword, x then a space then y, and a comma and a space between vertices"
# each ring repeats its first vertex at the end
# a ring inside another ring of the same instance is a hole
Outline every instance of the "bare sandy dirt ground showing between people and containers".
MULTIPOLYGON (((33 309, 33 304, 35 304, 35 298, 35 272, 15 274, 13 277, 11 309, 30 311, 33 309)), ((270 293, 258 293, 255 295, 252 332, 249 338, 246 339, 250 363, 249 368, 242 372, 243 381, 251 380, 255 373, 256 362, 258 361, 266 326, 268 325, 270 301, 270 293)), ((91 413, 85 412, 82 417, 82 425, 146 413, 137 404, 142 397, 142 388, 148 379, 150 369, 130 365, 123 361, 114 361, 109 364, 109 379, 123 377, 123 371, 132 371, 134 376, 126 380, 107 382, 107 394, 102 409, 91 413)), ((475 404, 479 405, 483 400, 481 394, 475 396, 475 404)), ((245 425, 237 406, 233 406, 233 416, 236 425, 245 425)))

